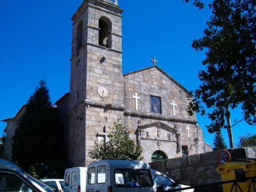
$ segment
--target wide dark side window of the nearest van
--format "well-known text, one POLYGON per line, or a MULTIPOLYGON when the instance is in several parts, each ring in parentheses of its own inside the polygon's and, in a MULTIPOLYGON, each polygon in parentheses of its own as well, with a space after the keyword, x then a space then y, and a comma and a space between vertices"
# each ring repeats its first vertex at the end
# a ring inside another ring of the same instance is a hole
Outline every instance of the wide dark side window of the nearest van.
POLYGON ((148 170, 116 169, 117 187, 152 187, 153 181, 148 170))

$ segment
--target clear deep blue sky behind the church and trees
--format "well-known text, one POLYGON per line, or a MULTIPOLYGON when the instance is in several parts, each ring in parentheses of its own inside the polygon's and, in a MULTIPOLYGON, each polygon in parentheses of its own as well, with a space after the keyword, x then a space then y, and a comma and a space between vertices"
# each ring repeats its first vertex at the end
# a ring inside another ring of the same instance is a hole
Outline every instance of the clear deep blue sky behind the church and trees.
MULTIPOLYGON (((38 81, 47 82, 52 102, 69 92, 72 21, 82 0, 0 1, 0 119, 16 114, 34 92, 38 81)), ((210 10, 198 10, 183 0, 118 0, 123 13, 123 73, 158 66, 185 86, 198 88, 198 70, 204 52, 196 52, 192 40, 203 36, 210 10)), ((209 0, 206 2, 210 2, 209 0)), ((242 118, 232 110, 232 122, 242 118)), ((205 128, 207 117, 198 114, 205 141, 214 134, 205 128)), ((6 126, 0 122, 0 135, 6 126)), ((238 137, 255 134, 255 126, 241 122, 233 127, 238 137)), ((226 130, 223 130, 226 142, 226 130)))

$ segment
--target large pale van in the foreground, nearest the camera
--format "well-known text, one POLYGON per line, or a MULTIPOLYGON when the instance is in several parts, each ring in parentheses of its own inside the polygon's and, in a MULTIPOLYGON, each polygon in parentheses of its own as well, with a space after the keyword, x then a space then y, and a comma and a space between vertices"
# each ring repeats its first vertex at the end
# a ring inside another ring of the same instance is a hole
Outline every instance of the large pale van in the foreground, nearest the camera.
POLYGON ((156 182, 148 163, 102 160, 88 165, 86 192, 154 192, 156 182))

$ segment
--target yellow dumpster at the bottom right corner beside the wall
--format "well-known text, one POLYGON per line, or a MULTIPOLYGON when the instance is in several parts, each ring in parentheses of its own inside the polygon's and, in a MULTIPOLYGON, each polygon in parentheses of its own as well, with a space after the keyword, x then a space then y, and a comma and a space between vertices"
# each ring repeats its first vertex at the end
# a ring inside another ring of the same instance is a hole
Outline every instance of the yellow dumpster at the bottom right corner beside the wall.
POLYGON ((256 179, 245 180, 245 178, 256 176, 256 161, 226 162, 216 171, 221 174, 222 181, 236 180, 222 184, 224 192, 255 192, 256 179))

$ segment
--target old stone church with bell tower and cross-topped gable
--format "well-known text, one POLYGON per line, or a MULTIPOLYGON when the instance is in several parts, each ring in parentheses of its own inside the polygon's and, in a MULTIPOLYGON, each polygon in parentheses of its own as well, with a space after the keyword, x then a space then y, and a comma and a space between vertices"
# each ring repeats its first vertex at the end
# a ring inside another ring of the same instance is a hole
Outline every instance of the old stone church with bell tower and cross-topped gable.
POLYGON ((196 116, 186 111, 189 91, 155 58, 150 67, 122 74, 123 11, 117 0, 84 0, 72 16, 70 92, 55 103, 68 163, 87 166, 88 151, 107 140, 118 118, 144 149, 146 162, 211 151, 196 116))

